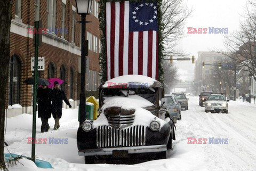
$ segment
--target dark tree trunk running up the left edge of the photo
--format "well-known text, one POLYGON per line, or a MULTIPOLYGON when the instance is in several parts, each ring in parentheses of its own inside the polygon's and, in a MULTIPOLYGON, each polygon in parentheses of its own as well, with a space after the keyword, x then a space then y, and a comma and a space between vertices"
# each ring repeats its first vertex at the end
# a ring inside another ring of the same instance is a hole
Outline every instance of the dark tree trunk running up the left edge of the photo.
POLYGON ((4 162, 4 119, 10 56, 11 7, 12 1, 0 0, 0 169, 3 170, 7 170, 4 162))

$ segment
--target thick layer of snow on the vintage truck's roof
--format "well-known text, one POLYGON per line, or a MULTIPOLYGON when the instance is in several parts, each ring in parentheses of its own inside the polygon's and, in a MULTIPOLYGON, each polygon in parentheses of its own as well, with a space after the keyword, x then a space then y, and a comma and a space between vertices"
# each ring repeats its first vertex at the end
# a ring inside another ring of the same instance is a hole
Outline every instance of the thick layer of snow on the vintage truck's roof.
MULTIPOLYGON (((142 76, 142 75, 125 75, 125 76, 119 76, 116 78, 112 78, 107 80, 104 84, 102 84, 102 88, 106 88, 109 86, 113 86, 114 84, 126 84, 129 85, 129 83, 139 83, 139 84, 146 84, 146 86, 160 86, 161 83, 159 83, 157 80, 147 77, 147 76, 142 76)), ((129 86, 127 86, 129 87, 129 86)))

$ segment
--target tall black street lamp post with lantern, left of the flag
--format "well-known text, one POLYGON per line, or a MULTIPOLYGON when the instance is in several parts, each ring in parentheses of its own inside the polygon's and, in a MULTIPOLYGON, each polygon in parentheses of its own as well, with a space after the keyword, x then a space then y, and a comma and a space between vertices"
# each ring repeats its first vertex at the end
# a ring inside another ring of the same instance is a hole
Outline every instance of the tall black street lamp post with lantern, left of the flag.
POLYGON ((86 15, 90 14, 92 6, 92 0, 76 0, 77 13, 81 14, 81 93, 80 93, 80 119, 79 125, 83 124, 85 120, 85 72, 86 72, 86 52, 88 50, 86 48, 85 43, 85 23, 86 23, 86 15))

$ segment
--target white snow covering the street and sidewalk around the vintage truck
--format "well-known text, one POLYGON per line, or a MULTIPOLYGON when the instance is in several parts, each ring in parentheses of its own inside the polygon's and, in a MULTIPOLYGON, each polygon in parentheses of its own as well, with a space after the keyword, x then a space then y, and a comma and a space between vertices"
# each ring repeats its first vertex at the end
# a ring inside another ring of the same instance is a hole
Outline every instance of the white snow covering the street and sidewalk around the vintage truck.
MULTIPOLYGON (((37 118, 36 138, 68 139, 67 144, 36 144, 38 159, 51 162, 54 170, 256 170, 256 105, 230 101, 229 113, 205 113, 198 105, 198 96, 188 96, 188 110, 182 111, 182 120, 176 124, 176 141, 169 159, 154 160, 137 165, 85 165, 76 145, 78 109, 63 109, 60 128, 53 131, 54 119, 49 121, 50 131, 41 133, 41 120, 37 118), (207 139, 206 144, 188 144, 188 138, 207 139), (209 137, 228 139, 227 144, 209 144, 209 137)), ((22 114, 7 118, 5 142, 11 153, 31 156, 28 138, 32 132, 32 116, 22 114)), ((5 147, 5 153, 8 153, 5 147)), ((52 170, 37 168, 27 159, 24 165, 9 170, 52 170)))

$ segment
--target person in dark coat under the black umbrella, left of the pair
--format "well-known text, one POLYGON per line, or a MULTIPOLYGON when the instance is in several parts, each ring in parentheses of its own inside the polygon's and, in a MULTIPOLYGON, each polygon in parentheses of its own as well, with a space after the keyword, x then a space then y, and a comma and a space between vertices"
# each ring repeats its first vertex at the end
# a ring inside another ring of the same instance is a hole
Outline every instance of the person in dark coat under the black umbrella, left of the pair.
POLYGON ((50 128, 48 119, 52 115, 52 89, 42 85, 37 89, 38 118, 41 118, 41 132, 47 132, 50 128))

